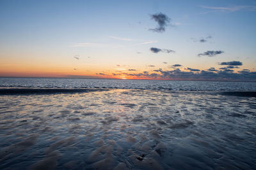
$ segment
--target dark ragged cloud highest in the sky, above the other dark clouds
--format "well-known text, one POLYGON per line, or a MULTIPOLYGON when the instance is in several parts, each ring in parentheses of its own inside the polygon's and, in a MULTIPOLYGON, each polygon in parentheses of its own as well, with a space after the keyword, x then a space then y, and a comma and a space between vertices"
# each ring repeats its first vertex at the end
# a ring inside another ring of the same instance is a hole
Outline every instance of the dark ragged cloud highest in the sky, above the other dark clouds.
POLYGON ((158 27, 155 29, 149 29, 150 31, 154 32, 164 32, 165 27, 170 23, 170 18, 167 15, 164 15, 163 13, 155 13, 153 15, 150 15, 152 20, 155 20, 158 24, 158 27))

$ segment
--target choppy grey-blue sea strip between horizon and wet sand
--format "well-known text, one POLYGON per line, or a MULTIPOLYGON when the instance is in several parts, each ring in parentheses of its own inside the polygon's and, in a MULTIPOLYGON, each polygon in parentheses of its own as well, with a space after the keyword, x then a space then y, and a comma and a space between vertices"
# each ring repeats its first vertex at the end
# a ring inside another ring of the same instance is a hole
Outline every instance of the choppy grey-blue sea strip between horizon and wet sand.
POLYGON ((62 89, 138 89, 170 91, 256 90, 256 82, 104 80, 79 78, 0 78, 0 87, 62 89))

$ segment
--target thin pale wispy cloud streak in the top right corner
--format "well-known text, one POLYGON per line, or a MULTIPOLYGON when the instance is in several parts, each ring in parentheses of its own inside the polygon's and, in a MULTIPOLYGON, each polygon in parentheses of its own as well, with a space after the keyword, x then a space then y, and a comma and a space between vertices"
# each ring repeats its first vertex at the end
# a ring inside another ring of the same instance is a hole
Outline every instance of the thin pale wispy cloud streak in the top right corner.
POLYGON ((209 9, 209 10, 215 10, 215 11, 240 11, 240 10, 246 10, 246 11, 256 11, 256 6, 253 5, 233 5, 233 6, 200 6, 201 8, 209 9))

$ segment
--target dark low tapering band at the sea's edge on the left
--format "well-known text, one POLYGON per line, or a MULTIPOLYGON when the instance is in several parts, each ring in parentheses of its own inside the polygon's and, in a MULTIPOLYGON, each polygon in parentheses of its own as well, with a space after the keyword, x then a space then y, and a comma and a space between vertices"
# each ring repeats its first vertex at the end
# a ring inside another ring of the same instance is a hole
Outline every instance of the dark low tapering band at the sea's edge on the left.
POLYGON ((19 94, 72 94, 81 92, 100 92, 109 89, 0 89, 0 95, 19 94))

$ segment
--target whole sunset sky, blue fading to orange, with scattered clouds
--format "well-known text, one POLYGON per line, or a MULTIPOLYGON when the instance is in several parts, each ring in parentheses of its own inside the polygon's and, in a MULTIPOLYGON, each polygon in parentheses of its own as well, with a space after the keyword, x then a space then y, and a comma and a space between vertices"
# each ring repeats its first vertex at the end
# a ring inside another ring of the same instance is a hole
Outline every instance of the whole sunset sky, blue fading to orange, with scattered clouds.
POLYGON ((256 81, 255 18, 255 0, 0 0, 0 76, 256 81))

